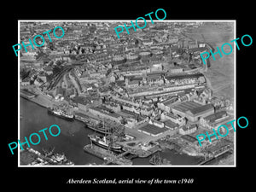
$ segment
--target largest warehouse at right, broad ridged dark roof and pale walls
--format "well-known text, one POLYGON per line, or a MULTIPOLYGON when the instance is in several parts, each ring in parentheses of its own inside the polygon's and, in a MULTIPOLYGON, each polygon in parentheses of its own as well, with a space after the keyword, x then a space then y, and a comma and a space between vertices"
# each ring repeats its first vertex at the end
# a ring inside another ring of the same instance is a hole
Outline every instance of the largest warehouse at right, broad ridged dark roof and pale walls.
POLYGON ((183 102, 172 108, 172 113, 186 117, 189 121, 195 122, 200 117, 207 117, 214 113, 212 104, 201 105, 195 102, 183 102))

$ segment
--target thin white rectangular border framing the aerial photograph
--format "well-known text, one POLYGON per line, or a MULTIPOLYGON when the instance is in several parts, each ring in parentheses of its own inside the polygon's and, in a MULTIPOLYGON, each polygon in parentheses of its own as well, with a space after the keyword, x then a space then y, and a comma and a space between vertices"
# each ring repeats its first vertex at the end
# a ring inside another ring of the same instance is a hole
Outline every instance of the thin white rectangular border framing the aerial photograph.
MULTIPOLYGON (((18 20, 18 44, 20 44, 20 22, 131 22, 131 20, 18 20)), ((143 22, 143 20, 138 20, 143 22)), ((151 21, 151 20, 147 20, 151 21)), ((236 39, 236 20, 155 20, 156 22, 234 22, 234 39, 236 39)), ((151 24, 154 25, 154 24, 151 24)), ((234 46, 235 47, 235 46, 234 46)), ((234 48, 234 117, 236 119, 236 49, 234 48)), ((235 125, 236 128, 236 125, 235 125)), ((20 148, 18 148, 18 167, 236 167, 236 132, 234 132, 234 165, 227 166, 20 166, 20 148)), ((18 53, 18 138, 20 139, 20 52, 18 53)))

